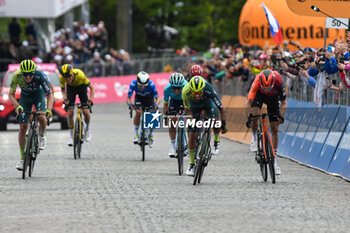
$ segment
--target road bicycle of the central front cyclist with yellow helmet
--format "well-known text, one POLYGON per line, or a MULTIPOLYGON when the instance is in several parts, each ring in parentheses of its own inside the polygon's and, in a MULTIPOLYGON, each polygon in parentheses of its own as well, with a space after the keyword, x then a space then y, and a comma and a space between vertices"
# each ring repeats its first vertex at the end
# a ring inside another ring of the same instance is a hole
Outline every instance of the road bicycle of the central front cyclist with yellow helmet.
MULTIPOLYGON (((208 119, 203 119, 203 121, 207 121, 208 119)), ((211 121, 213 119, 209 119, 211 121)), ((210 124, 209 124, 210 125, 210 124)), ((210 140, 211 140, 211 128, 205 127, 196 129, 197 131, 197 146, 195 151, 195 173, 194 173, 194 179, 193 179, 193 185, 196 185, 197 182, 200 184, 202 180, 202 176, 204 174, 204 168, 208 166, 208 162, 211 159, 211 147, 210 147, 210 140)))

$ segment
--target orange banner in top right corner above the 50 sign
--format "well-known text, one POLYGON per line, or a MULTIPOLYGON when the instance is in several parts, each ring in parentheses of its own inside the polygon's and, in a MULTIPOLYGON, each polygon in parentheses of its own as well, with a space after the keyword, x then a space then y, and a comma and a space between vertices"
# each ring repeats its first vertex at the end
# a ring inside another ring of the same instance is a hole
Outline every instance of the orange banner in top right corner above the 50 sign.
POLYGON ((349 0, 286 0, 288 7, 298 15, 325 17, 311 9, 316 6, 321 11, 335 18, 349 18, 349 0))

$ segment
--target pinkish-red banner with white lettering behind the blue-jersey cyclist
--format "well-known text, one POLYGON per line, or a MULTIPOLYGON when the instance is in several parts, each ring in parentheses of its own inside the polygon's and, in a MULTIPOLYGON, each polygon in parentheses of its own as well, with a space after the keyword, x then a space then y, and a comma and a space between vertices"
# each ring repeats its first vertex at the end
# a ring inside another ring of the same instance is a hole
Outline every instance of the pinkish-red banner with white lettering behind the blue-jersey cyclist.
MULTIPOLYGON (((164 97, 163 91, 169 83, 170 75, 171 73, 150 74, 150 79, 157 87, 159 98, 164 97)), ((136 75, 89 78, 95 87, 94 102, 124 102, 128 95, 130 83, 134 79, 136 79, 136 75)))

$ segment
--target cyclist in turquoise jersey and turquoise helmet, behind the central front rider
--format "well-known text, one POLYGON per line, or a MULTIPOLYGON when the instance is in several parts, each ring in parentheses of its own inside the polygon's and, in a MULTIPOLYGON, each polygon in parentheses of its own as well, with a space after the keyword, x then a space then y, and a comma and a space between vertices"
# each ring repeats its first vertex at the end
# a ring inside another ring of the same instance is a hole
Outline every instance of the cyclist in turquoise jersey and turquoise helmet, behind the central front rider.
MULTIPOLYGON (((170 75, 169 84, 164 89, 164 106, 163 114, 168 113, 178 113, 181 106, 183 106, 181 91, 182 88, 188 82, 185 80, 185 77, 181 73, 173 73, 170 75), (170 97, 170 102, 169 102, 170 97)), ((175 119, 172 119, 175 120, 175 119)), ((171 147, 169 149, 169 157, 175 158, 176 148, 175 148, 175 138, 176 138, 176 128, 170 124, 169 127, 169 137, 171 147)))

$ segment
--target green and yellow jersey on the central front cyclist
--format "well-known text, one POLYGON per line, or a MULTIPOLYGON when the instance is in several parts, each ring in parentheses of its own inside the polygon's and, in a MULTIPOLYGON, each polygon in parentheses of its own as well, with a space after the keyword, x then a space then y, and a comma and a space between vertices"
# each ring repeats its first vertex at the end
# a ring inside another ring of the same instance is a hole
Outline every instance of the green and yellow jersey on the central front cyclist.
POLYGON ((205 81, 205 86, 202 92, 203 94, 201 96, 201 99, 195 100, 192 94, 192 91, 190 89, 190 84, 189 83, 186 84, 182 89, 182 100, 184 102, 185 108, 189 109, 190 107, 196 107, 198 105, 206 105, 210 101, 213 101, 218 109, 223 108, 218 95, 214 91, 214 88, 207 81, 205 81))

